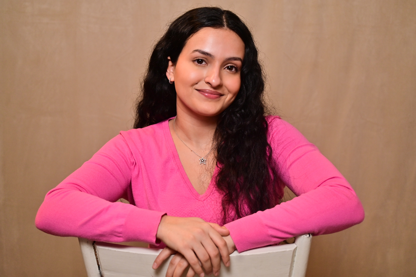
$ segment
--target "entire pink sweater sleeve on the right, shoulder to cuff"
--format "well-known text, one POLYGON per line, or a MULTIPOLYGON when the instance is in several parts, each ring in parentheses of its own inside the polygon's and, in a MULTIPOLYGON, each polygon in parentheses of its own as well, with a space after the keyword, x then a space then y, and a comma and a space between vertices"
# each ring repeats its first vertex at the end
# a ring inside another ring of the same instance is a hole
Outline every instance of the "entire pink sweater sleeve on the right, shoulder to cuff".
POLYGON ((239 252, 295 235, 334 233, 364 220, 354 190, 317 147, 280 118, 270 120, 269 130, 280 177, 297 197, 227 223, 239 252))

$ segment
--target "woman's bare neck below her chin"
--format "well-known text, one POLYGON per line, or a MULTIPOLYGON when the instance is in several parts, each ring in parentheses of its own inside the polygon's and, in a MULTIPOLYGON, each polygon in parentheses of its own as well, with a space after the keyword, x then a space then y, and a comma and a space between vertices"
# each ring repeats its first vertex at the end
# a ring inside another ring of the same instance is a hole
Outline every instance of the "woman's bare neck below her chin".
MULTIPOLYGON (((204 116, 177 105, 175 129, 179 137, 195 150, 209 150, 218 116, 204 116)), ((173 124, 173 122, 172 122, 173 124)))

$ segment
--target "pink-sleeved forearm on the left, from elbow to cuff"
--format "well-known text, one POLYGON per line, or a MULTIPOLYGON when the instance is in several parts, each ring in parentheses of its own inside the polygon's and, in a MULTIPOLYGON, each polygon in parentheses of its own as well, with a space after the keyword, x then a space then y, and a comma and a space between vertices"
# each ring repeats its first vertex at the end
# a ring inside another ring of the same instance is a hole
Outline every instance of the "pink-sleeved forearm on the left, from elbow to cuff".
POLYGON ((163 214, 126 203, 111 203, 82 191, 57 189, 45 198, 35 224, 52 235, 154 244, 163 214))

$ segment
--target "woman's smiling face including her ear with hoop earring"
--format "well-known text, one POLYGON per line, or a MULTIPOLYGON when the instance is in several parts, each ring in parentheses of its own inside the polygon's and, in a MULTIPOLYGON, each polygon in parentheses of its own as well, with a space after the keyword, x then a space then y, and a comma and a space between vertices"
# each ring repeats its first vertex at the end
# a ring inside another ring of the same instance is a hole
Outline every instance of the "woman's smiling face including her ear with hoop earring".
POLYGON ((243 41, 229 29, 205 27, 193 34, 166 72, 175 82, 177 108, 202 116, 228 108, 240 90, 244 52, 243 41))

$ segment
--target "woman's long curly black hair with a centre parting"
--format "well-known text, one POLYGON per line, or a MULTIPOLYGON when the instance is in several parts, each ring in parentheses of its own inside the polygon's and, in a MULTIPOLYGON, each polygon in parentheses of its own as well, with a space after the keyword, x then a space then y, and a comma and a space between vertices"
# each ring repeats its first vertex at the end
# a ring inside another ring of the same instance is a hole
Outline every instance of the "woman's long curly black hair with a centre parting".
POLYGON ((223 223, 272 208, 283 197, 277 164, 267 142, 264 75, 248 27, 235 13, 200 7, 174 20, 156 43, 136 104, 134 128, 143 128, 176 115, 175 86, 166 78, 168 56, 176 64, 186 41, 203 27, 228 28, 245 44, 241 86, 234 102, 218 118, 214 133, 216 185, 223 193, 223 223))

